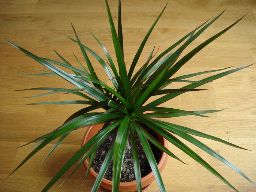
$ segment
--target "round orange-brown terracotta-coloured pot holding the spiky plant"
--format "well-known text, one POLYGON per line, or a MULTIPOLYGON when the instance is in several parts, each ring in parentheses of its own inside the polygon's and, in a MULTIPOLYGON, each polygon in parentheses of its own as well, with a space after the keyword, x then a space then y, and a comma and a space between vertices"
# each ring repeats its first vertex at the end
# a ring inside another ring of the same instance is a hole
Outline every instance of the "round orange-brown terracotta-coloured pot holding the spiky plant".
MULTIPOLYGON (((82 140, 82 146, 86 142, 88 142, 96 133, 98 133, 99 129, 101 129, 102 127, 103 127, 103 124, 94 125, 94 126, 89 127, 84 134, 84 137, 82 140)), ((167 140, 160 135, 158 135, 158 136, 159 136, 160 142, 167 148, 168 147, 167 140)), ((165 165, 167 163, 167 157, 168 157, 168 155, 166 153, 162 154, 160 162, 158 163, 158 168, 159 168, 160 172, 162 172, 163 168, 165 167, 165 165)), ((83 165, 86 169, 88 167, 88 164, 89 164, 89 158, 87 158, 83 162, 83 165)), ((91 176, 91 178, 93 178, 93 180, 95 180, 98 174, 95 173, 95 171, 92 168, 90 168, 89 175, 91 176)), ((153 172, 150 172, 147 176, 143 177, 142 178, 143 191, 146 191, 146 189, 148 189, 150 187, 150 185, 153 184, 154 180, 155 180, 155 177, 154 177, 153 172)), ((113 184, 112 181, 109 181, 109 180, 103 178, 100 186, 111 191, 112 184, 113 184)), ((119 191, 120 192, 136 192, 137 191, 136 181, 120 182, 119 191)))

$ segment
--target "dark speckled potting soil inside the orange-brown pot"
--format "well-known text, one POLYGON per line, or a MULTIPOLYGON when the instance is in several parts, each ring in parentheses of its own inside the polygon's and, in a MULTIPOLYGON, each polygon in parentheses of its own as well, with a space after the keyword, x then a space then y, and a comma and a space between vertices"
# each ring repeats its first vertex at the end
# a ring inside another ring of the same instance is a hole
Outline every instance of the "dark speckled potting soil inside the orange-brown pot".
MULTIPOLYGON (((150 135, 152 135, 156 140, 159 141, 157 134, 152 129, 148 128, 146 125, 140 122, 138 122, 138 124, 144 130, 146 130, 150 135)), ((116 137, 116 133, 114 133, 112 136, 106 139, 105 142, 103 142, 99 146, 92 164, 92 168, 96 173, 99 173, 102 163, 115 137, 116 137)), ((146 154, 144 153, 142 144, 140 143, 138 136, 137 136, 137 144, 138 144, 138 153, 139 153, 139 162, 140 162, 140 173, 141 173, 141 176, 144 177, 147 174, 149 174, 152 170, 148 163, 146 154)), ((154 144, 152 144, 151 142, 149 142, 149 144, 150 144, 151 150, 153 151, 153 154, 157 163, 159 163, 162 156, 162 151, 156 146, 154 146, 154 144)), ((106 171, 106 174, 104 176, 105 179, 112 181, 112 170, 113 170, 113 159, 110 162, 108 170, 106 171)), ((125 149, 120 182, 130 182, 130 181, 135 181, 135 173, 134 173, 134 167, 133 167, 131 142, 129 141, 125 149)))

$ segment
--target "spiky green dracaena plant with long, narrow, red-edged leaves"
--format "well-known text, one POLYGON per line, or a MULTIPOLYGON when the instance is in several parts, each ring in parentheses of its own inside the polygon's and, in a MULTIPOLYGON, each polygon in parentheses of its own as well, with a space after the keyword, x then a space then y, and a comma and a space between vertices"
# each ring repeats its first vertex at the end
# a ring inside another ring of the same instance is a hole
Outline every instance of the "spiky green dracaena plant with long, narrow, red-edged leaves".
MULTIPOLYGON (((166 6, 165 6, 166 7, 166 6)), ((81 69, 72 67, 67 60, 65 60, 60 54, 56 52, 56 54, 62 60, 61 62, 41 58, 35 56, 33 53, 12 44, 22 52, 24 52, 27 56, 33 58, 34 60, 38 61, 52 72, 44 72, 43 74, 34 74, 34 75, 59 75, 60 77, 64 78, 68 82, 72 83, 77 89, 63 89, 63 88, 34 88, 34 89, 26 89, 26 90, 50 90, 51 92, 41 94, 53 94, 53 93, 72 93, 79 95, 82 100, 79 101, 62 101, 62 102, 43 102, 43 103, 31 103, 29 105, 36 105, 36 104, 81 104, 81 105, 89 105, 78 112, 72 114, 62 126, 55 129, 54 131, 47 133, 27 144, 35 143, 34 150, 20 163, 20 165, 13 171, 15 172, 20 166, 22 166, 28 159, 30 159, 35 153, 45 147, 49 142, 53 141, 54 139, 59 138, 56 142, 55 146, 49 152, 47 157, 54 151, 54 149, 71 133, 72 131, 81 128, 87 127, 90 125, 101 124, 105 123, 105 127, 98 132, 89 142, 87 142, 83 147, 81 147, 74 156, 69 159, 69 161, 63 166, 63 168, 53 177, 53 179, 46 185, 46 187, 42 191, 47 191, 52 185, 72 166, 74 163, 78 162, 78 165, 72 172, 72 174, 78 169, 78 167, 83 163, 83 161, 88 158, 90 155, 94 157, 95 152, 99 145, 103 143, 110 135, 114 132, 117 132, 116 138, 112 144, 112 147, 107 154, 105 161, 99 171, 98 177, 93 185, 92 191, 97 191, 99 184, 108 168, 109 162, 113 157, 113 188, 112 191, 118 192, 119 182, 120 182, 120 175, 121 175, 121 168, 123 163, 123 157, 125 153, 125 147, 127 144, 128 139, 130 138, 132 141, 132 155, 133 155, 133 165, 135 167, 135 176, 137 182, 138 191, 142 191, 142 184, 141 184, 141 173, 140 173, 140 166, 139 166, 139 157, 138 157, 138 150, 137 150, 137 143, 135 141, 135 136, 138 135, 140 142, 142 143, 144 152, 146 153, 148 162, 150 163, 151 169, 154 173, 155 179, 157 181, 159 190, 166 191, 165 186, 163 184, 163 180, 161 178, 161 174, 157 167, 157 162, 155 161, 154 155, 151 151, 148 141, 154 143, 159 149, 167 153, 170 157, 177 159, 181 163, 178 157, 176 157, 171 151, 167 148, 155 142, 154 138, 152 138, 144 129, 138 126, 138 121, 142 122, 143 124, 147 125, 149 128, 153 129, 153 131, 157 132, 159 135, 162 135, 166 138, 170 143, 174 146, 180 148, 180 150, 184 151, 188 154, 191 158, 195 159, 195 161, 199 162, 202 166, 204 166, 208 171, 212 174, 217 176, 221 179, 225 184, 227 184, 230 188, 237 191, 229 182, 225 180, 214 168, 212 168, 206 161, 204 161, 199 155, 197 155, 191 148, 185 145, 181 140, 179 140, 176 136, 180 136, 181 138, 188 140, 193 145, 201 148, 202 150, 206 151, 208 154, 212 155, 213 157, 217 158, 219 161, 225 163, 227 166, 230 166, 236 172, 238 172, 242 177, 246 180, 254 184, 248 177, 245 176, 237 167, 223 158, 221 155, 217 154, 211 148, 197 140, 191 135, 200 136, 203 138, 215 140, 217 142, 221 142, 223 144, 227 144, 232 147, 238 147, 234 144, 226 142, 225 140, 216 138, 211 135, 207 135, 205 133, 183 127, 181 125, 176 125, 172 123, 168 123, 166 121, 157 120, 157 117, 178 117, 178 116, 200 116, 206 117, 204 114, 206 113, 214 113, 220 110, 204 110, 204 111, 185 111, 180 109, 172 109, 172 108, 164 108, 158 107, 164 102, 169 101, 170 99, 177 97, 187 91, 200 91, 202 89, 196 89, 207 82, 211 82, 215 79, 221 78, 223 76, 229 75, 233 72, 239 71, 246 67, 236 68, 236 69, 218 69, 212 71, 204 71, 204 72, 197 72, 188 75, 182 75, 173 78, 173 75, 185 64, 189 61, 197 52, 203 49, 206 45, 210 44, 210 42, 214 41, 220 35, 225 33, 231 27, 236 25, 241 19, 237 22, 233 23, 226 29, 222 30, 218 34, 214 35, 213 37, 207 39, 202 44, 194 48, 192 51, 187 53, 184 57, 179 58, 182 51, 187 48, 191 42, 193 42, 200 34, 202 34, 215 20, 222 15, 218 15, 211 21, 207 21, 203 23, 203 25, 196 27, 195 30, 191 31, 187 35, 185 35, 182 39, 177 41, 174 45, 170 46, 164 52, 159 54, 155 59, 153 59, 153 52, 150 53, 148 59, 144 65, 136 72, 135 67, 138 64, 138 60, 140 55, 142 54, 142 50, 148 37, 150 36, 151 31, 155 27, 156 23, 158 22, 159 18, 161 17, 163 11, 155 20, 153 25, 150 27, 149 31, 147 32, 145 38, 142 41, 142 44, 139 46, 138 51, 129 67, 125 65, 124 61, 124 51, 123 51, 123 34, 122 34, 122 25, 121 25, 121 4, 119 1, 118 4, 118 30, 116 31, 112 19, 112 15, 110 12, 110 8, 108 2, 106 0, 106 8, 108 12, 108 18, 110 23, 110 28, 112 32, 112 39, 114 44, 114 50, 116 53, 117 63, 114 64, 110 54, 105 49, 103 44, 99 42, 99 40, 93 35, 96 41, 101 45, 103 48, 107 62, 105 62, 97 53, 91 50, 86 45, 83 45, 82 42, 79 40, 79 37, 74 29, 75 38, 69 37, 72 41, 79 45, 84 60, 87 64, 87 69, 78 61, 81 69), (89 60, 87 54, 92 54, 102 65, 103 69, 105 69, 106 74, 109 76, 109 80, 113 83, 113 89, 107 85, 107 82, 104 80, 98 79, 97 74, 94 71, 95 64, 92 64, 89 60), (62 69, 58 68, 57 65, 61 67, 71 69, 73 72, 68 73, 63 71, 62 69), (227 70, 225 70, 227 69, 227 70), (191 81, 186 80, 187 78, 191 78, 193 76, 201 75, 201 74, 211 74, 211 72, 219 72, 217 75, 212 75, 207 78, 201 79, 199 81, 191 81), (180 88, 180 89, 167 89, 171 83, 174 82, 181 82, 186 83, 188 85, 180 88), (86 94, 85 94, 86 93, 86 94), (152 96, 158 95, 158 98, 154 101, 146 102, 152 96), (104 112, 93 112, 95 109, 102 108, 104 112), (110 123, 112 122, 112 123, 110 123)), ((31 74, 30 74, 31 75, 31 74)), ((36 95, 38 96, 38 95, 36 95)), ((241 148, 243 149, 243 148, 241 148)), ((47 158, 46 157, 46 158, 47 158)), ((93 158, 90 158, 90 163, 93 158)), ((89 166, 90 168, 90 166, 89 166)), ((89 170, 89 169, 88 169, 89 170)), ((86 176, 88 174, 88 170, 86 176)), ((12 172, 12 173, 13 173, 12 172)), ((71 174, 71 175, 72 175, 71 174)), ((69 176, 70 177, 70 176, 69 176)), ((68 178, 69 178, 68 177, 68 178)), ((254 184, 255 185, 255 184, 254 184)))

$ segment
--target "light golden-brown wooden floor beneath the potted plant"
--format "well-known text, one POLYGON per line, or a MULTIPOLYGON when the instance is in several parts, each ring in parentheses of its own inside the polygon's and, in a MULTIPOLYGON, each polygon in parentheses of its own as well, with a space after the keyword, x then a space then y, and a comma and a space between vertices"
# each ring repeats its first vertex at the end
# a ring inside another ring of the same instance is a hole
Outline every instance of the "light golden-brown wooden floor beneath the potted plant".
MULTIPOLYGON (((125 62, 133 59, 144 35, 167 0, 123 0, 123 33, 125 62)), ((117 19, 117 0, 109 5, 117 19)), ((151 34, 140 63, 147 59, 154 45, 160 46, 157 54, 174 44, 183 35, 195 29, 223 10, 225 13, 195 42, 187 52, 204 40, 231 25, 247 14, 236 26, 205 49, 199 52, 179 74, 188 74, 224 67, 242 67, 256 62, 256 1, 255 0, 169 0, 167 8, 151 34)), ((46 146, 11 176, 12 170, 31 151, 29 147, 16 148, 38 136, 48 133, 76 110, 79 105, 35 105, 24 104, 45 101, 77 99, 70 94, 46 95, 44 97, 22 98, 43 93, 41 91, 15 91, 33 87, 72 87, 56 76, 27 76, 38 69, 45 69, 34 60, 24 56, 19 50, 3 39, 13 42, 40 57, 57 59, 54 50, 76 65, 72 51, 82 60, 79 47, 65 34, 75 37, 70 22, 74 25, 82 42, 101 56, 103 51, 89 34, 84 22, 95 36, 114 54, 110 28, 104 0, 1 0, 0 1, 0 191, 38 192, 50 181, 58 170, 80 147, 86 128, 72 133, 42 165, 54 143, 46 146)), ((187 53, 186 52, 186 53, 187 53)), ((185 53, 184 53, 185 54, 185 53)), ((183 55, 184 55, 183 54, 183 55)), ((105 58, 105 57, 104 57, 105 58)), ((101 78, 107 78, 94 60, 96 71, 101 78)), ((203 77, 203 76, 202 76, 203 77)), ((177 86, 179 86, 177 84, 177 86)), ((180 117, 169 121, 204 133, 212 134, 250 151, 238 150, 218 142, 200 139, 223 157, 242 170, 256 182, 256 65, 210 82, 202 88, 207 91, 184 94, 165 104, 184 110, 225 109, 212 118, 180 117)), ((187 142, 186 142, 187 143, 187 142)), ((189 143, 188 143, 189 144, 189 143)), ((188 165, 168 159, 162 172, 169 192, 230 192, 232 191, 217 177, 199 163, 173 146, 169 146, 188 165)), ((230 167, 218 162, 199 148, 193 150, 210 163, 231 184, 241 192, 255 192, 256 187, 230 167)), ((69 172, 70 173, 70 172, 69 172)), ((49 191, 76 192, 90 191, 93 181, 84 179, 84 169, 80 167, 63 186, 58 187, 65 174, 49 191)), ((106 191, 99 188, 100 192, 106 191)), ((159 191, 154 183, 147 192, 159 191)))

